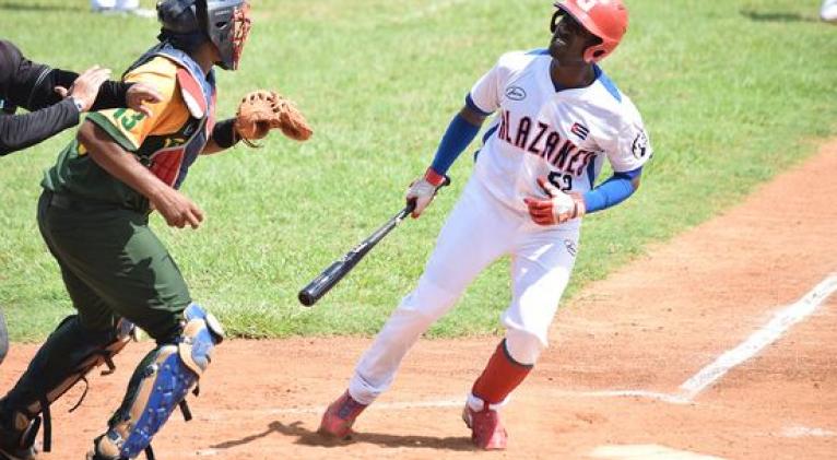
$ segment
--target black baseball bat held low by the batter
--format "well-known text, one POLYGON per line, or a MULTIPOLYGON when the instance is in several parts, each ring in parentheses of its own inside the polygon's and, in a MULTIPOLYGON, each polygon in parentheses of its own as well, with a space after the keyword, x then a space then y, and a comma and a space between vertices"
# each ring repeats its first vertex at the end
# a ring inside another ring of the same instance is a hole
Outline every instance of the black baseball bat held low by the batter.
POLYGON ((317 278, 315 278, 308 285, 299 291, 299 302, 306 307, 310 307, 316 304, 327 292, 329 292, 340 280, 343 279, 352 269, 387 234, 392 232, 398 224, 401 223, 411 212, 415 209, 415 202, 408 203, 404 209, 398 212, 389 219, 380 228, 375 231, 366 239, 361 241, 346 252, 343 257, 335 260, 334 263, 329 266, 317 278))

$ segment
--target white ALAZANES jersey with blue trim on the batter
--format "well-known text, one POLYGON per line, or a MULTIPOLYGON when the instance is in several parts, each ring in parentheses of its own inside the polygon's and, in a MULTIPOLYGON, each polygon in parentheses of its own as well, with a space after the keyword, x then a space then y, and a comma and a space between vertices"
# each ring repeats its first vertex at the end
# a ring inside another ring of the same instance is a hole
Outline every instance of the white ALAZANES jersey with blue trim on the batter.
POLYGON ((471 90, 468 105, 497 110, 474 175, 500 201, 526 212, 523 197, 542 197, 538 176, 565 192, 593 187, 605 158, 614 172, 639 168, 651 156, 634 104, 596 67, 587 87, 556 89, 546 50, 500 57, 471 90))

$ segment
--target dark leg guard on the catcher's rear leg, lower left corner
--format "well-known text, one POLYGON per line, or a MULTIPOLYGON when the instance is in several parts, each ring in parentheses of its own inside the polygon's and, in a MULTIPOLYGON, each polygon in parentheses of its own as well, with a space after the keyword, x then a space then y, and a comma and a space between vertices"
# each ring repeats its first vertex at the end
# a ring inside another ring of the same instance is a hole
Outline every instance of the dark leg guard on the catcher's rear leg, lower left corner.
POLYGON ((127 320, 120 320, 108 331, 90 331, 81 326, 76 316, 61 321, 14 388, 0 399, 0 456, 24 459, 34 456, 32 446, 40 426, 40 414, 44 450, 49 451, 49 404, 79 380, 84 380, 96 366, 107 364, 113 370, 111 358, 128 344, 133 330, 127 320))

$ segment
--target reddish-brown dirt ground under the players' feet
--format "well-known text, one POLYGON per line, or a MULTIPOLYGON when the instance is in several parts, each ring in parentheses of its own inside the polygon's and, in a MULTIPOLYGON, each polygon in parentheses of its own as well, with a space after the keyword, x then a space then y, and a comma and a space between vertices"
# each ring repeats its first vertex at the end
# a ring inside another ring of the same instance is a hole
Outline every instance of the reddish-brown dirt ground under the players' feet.
MULTIPOLYGON (((837 143, 563 308, 504 412, 506 452, 475 453, 459 418, 496 338, 421 341, 338 444, 314 432, 369 340, 294 339, 223 344, 191 400, 196 420, 175 414, 157 458, 837 458, 837 295, 815 287, 837 273, 834 170, 837 143)), ((93 376, 75 412, 80 389, 55 405, 45 458, 83 458, 150 347, 93 376)), ((12 349, 0 388, 34 351, 12 349)))

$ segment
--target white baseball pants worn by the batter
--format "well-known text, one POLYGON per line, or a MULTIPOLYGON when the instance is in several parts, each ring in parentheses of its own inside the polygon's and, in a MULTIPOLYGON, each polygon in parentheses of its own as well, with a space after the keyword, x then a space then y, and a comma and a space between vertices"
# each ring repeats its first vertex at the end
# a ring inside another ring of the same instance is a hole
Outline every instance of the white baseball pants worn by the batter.
POLYGON ((502 315, 506 345, 518 363, 535 363, 547 345, 550 323, 569 282, 579 225, 539 226, 518 208, 498 201, 479 178, 471 178, 417 286, 358 362, 349 385, 352 398, 369 404, 386 391, 418 337, 456 304, 481 271, 505 255, 511 257, 512 280, 511 303, 502 315))

